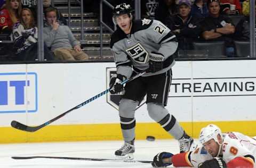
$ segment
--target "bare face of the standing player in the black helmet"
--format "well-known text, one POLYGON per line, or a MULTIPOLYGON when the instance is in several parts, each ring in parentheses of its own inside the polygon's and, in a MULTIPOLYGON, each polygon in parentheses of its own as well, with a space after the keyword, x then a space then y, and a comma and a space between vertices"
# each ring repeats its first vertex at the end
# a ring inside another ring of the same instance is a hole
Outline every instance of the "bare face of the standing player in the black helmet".
POLYGON ((126 34, 131 32, 131 18, 128 14, 116 16, 116 23, 126 34))

